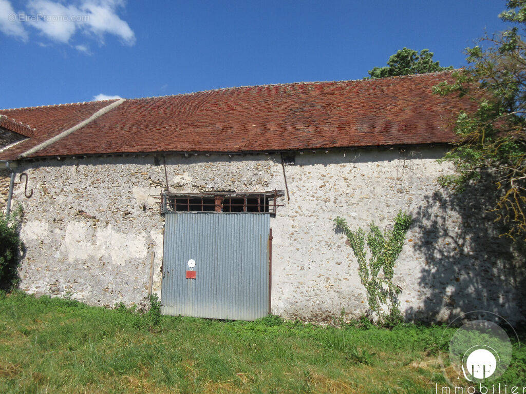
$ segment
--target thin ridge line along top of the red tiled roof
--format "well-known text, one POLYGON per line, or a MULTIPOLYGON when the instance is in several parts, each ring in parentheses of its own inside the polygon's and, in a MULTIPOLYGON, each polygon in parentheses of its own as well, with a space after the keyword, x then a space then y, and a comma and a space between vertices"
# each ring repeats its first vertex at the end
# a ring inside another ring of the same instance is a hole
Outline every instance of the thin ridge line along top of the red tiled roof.
MULTIPOLYGON (((215 91, 221 91, 221 90, 235 90, 235 89, 244 89, 244 88, 262 88, 262 87, 269 87, 269 86, 293 86, 293 85, 319 85, 319 84, 338 84, 342 82, 364 82, 364 83, 375 83, 375 81, 381 81, 386 79, 402 79, 402 78, 421 78, 423 76, 429 76, 429 75, 438 75, 438 74, 446 74, 448 72, 456 71, 458 69, 448 69, 448 70, 442 70, 442 71, 435 71, 435 72, 425 72, 422 74, 409 74, 409 75, 400 75, 400 76, 394 76, 394 77, 384 77, 384 78, 361 78, 361 79, 342 79, 342 80, 333 80, 333 81, 300 81, 300 82, 286 82, 283 84, 262 84, 262 85, 246 85, 246 86, 230 86, 226 88, 216 88, 216 89, 208 89, 208 90, 198 90, 193 92, 185 92, 185 93, 178 93, 175 95, 165 95, 165 96, 148 96, 148 97, 135 97, 135 98, 126 98, 126 101, 136 101, 136 100, 148 100, 148 99, 155 99, 155 98, 165 98, 165 97, 183 97, 183 96, 190 96, 190 95, 198 95, 202 93, 209 93, 209 92, 215 92, 215 91)), ((50 107, 62 107, 62 106, 73 106, 73 105, 80 105, 80 104, 89 104, 89 103, 95 103, 95 102, 104 102, 104 101, 116 101, 118 99, 108 99, 108 100, 94 100, 94 101, 79 101, 79 102, 70 102, 70 103, 64 103, 64 104, 52 104, 52 105, 45 105, 45 106, 34 106, 34 107, 20 107, 20 108, 6 108, 6 109, 0 109, 0 112, 5 111, 14 111, 19 109, 36 109, 36 108, 50 108, 50 107)))

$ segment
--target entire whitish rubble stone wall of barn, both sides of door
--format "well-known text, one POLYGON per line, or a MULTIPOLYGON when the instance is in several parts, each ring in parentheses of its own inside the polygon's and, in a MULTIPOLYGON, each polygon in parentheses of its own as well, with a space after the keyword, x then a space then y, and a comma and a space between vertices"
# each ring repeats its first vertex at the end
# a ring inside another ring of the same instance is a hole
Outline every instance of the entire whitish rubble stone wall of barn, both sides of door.
MULTIPOLYGON (((440 192, 436 178, 450 171, 436 160, 441 148, 324 152, 297 154, 285 167, 290 201, 282 199, 285 206, 271 219, 273 313, 321 320, 342 309, 349 316, 365 312, 356 259, 333 219, 389 229, 401 209, 414 219, 395 266, 408 319, 447 320, 472 309, 522 318, 523 267, 474 224, 476 201, 459 203, 440 192)), ((171 191, 285 189, 279 155, 167 155, 166 165, 171 191)), ((49 160, 22 163, 17 171, 29 174, 34 190, 25 199, 17 183, 13 203, 25 211, 26 292, 71 294, 92 305, 139 303, 153 262, 160 293, 161 157, 49 160)))

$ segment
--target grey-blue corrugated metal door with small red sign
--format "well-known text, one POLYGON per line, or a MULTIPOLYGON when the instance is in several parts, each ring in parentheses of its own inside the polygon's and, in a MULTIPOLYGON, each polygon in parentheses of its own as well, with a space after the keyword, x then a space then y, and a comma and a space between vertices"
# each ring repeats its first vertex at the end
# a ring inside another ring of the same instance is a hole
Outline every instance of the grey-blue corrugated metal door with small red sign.
POLYGON ((267 213, 167 213, 161 313, 255 320, 269 308, 267 213), (187 279, 188 261, 196 262, 187 279))

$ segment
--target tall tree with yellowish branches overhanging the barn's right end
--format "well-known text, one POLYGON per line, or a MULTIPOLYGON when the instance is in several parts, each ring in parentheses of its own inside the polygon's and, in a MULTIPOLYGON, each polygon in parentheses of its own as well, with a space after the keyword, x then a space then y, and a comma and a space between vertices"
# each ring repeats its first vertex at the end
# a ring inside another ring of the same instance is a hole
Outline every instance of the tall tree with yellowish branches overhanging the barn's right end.
POLYGON ((476 111, 460 113, 458 140, 445 157, 457 173, 440 180, 460 191, 484 185, 493 197, 485 209, 504 225, 501 234, 526 240, 526 43, 519 34, 526 31, 526 0, 506 5, 499 17, 513 27, 479 38, 466 49, 468 66, 453 72, 454 82, 433 87, 477 103, 476 111))

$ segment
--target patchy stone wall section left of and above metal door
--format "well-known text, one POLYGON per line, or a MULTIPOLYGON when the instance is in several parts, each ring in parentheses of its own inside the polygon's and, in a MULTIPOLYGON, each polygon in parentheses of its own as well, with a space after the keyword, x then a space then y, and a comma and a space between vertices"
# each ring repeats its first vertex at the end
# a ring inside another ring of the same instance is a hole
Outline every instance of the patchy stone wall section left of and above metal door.
MULTIPOLYGON (((21 164, 31 199, 16 183, 13 209, 24 208, 27 245, 21 287, 72 294, 88 304, 138 303, 146 297, 153 259, 160 293, 164 166, 152 155, 21 164)), ((166 158, 171 191, 268 190, 273 160, 254 157, 166 158), (226 161, 223 161, 226 160, 226 161)), ((17 178, 18 180, 18 178, 17 178)))

